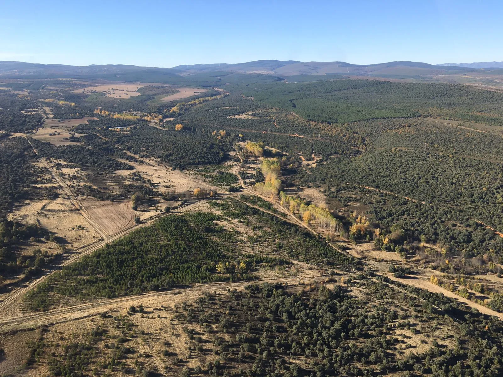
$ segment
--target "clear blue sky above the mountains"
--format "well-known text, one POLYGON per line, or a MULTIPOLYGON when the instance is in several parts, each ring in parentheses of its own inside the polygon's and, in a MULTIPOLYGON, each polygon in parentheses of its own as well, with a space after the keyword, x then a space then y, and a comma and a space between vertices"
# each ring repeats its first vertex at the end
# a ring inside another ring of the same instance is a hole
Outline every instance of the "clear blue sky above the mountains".
POLYGON ((0 60, 503 61, 501 1, 3 0, 0 9, 0 60))

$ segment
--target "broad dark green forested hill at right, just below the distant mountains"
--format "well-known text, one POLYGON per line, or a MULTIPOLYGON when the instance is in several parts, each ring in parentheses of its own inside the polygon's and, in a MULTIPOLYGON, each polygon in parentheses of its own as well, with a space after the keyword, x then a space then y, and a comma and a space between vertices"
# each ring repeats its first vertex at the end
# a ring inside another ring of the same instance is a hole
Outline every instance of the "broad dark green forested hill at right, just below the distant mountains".
POLYGON ((329 80, 281 83, 243 90, 254 101, 313 121, 346 123, 418 116, 501 125, 503 95, 462 85, 329 80))

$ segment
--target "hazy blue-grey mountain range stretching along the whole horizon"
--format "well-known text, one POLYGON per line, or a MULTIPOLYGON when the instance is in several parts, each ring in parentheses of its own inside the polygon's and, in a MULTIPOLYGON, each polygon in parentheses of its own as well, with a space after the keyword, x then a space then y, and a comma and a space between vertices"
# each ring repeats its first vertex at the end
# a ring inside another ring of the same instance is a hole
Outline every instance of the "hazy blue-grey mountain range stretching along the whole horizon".
MULTIPOLYGON (((432 65, 412 61, 392 61, 387 63, 358 65, 342 61, 301 62, 296 60, 256 60, 245 63, 194 64, 178 65, 173 68, 141 67, 136 65, 107 64, 74 66, 61 64, 34 64, 18 61, 0 61, 0 78, 80 78, 105 79, 113 81, 135 82, 181 82, 206 80, 208 77, 220 77, 232 73, 268 74, 280 78, 296 75, 337 75, 368 76, 396 79, 430 79, 449 75, 503 74, 503 62, 441 64, 432 65), (500 68, 501 67, 501 68, 500 68)), ((207 79, 213 82, 213 79, 207 79)))

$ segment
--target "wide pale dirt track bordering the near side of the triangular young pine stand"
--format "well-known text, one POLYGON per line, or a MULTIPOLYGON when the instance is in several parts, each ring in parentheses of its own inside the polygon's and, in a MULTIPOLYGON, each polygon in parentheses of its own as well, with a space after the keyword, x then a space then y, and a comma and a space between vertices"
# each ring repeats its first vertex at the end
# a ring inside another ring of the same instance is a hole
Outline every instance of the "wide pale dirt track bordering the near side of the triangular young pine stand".
MULTIPOLYGON (((49 325, 61 322, 74 321, 85 317, 98 315, 103 309, 117 304, 137 303, 141 300, 147 300, 155 297, 175 296, 187 292, 204 292, 208 290, 222 290, 231 288, 243 288, 250 284, 262 284, 268 282, 270 284, 283 283, 283 284, 298 284, 299 281, 316 280, 322 277, 318 274, 301 275, 292 278, 278 278, 267 280, 251 280, 240 282, 216 282, 204 284, 202 286, 176 289, 171 291, 146 293, 137 296, 126 296, 116 299, 102 299, 92 303, 85 303, 74 305, 66 308, 57 308, 47 312, 29 313, 21 316, 2 318, 0 319, 0 333, 12 331, 19 328, 37 327, 40 325, 49 325), (88 312, 85 312, 88 311, 88 312), (93 311, 89 313, 89 311, 93 311), (65 317, 66 316, 66 317, 65 317)), ((326 279, 326 278, 325 278, 326 279)))

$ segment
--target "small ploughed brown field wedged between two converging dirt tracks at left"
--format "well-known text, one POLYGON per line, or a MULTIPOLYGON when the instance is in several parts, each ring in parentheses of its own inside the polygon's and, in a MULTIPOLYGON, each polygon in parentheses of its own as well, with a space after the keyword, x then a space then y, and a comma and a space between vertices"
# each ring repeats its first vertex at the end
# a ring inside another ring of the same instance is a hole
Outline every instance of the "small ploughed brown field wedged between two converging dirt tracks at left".
POLYGON ((134 218, 136 216, 131 208, 130 201, 83 200, 81 204, 100 230, 108 236, 112 236, 134 225, 134 218))

